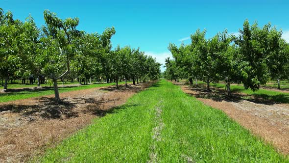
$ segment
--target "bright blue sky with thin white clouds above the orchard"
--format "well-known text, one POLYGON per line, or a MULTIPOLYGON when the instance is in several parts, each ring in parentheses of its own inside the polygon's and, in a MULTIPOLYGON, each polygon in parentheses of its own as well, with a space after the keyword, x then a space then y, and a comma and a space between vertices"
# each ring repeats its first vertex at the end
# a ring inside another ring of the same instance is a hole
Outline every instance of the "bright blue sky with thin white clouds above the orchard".
POLYGON ((245 19, 260 26, 270 22, 289 40, 289 0, 0 0, 0 7, 16 19, 31 14, 38 26, 45 9, 62 19, 78 17, 78 29, 87 32, 114 26, 114 47, 140 47, 161 63, 170 55, 169 43, 190 43, 197 28, 210 38, 225 28, 238 32, 245 19))

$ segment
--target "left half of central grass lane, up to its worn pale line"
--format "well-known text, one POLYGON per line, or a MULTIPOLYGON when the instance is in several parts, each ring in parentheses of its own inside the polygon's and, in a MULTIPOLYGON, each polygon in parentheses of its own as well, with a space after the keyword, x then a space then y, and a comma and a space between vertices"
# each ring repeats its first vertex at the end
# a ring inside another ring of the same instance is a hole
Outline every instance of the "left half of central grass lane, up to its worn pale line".
POLYGON ((155 106, 162 93, 154 85, 92 125, 49 149, 40 162, 146 163, 152 143, 155 106))

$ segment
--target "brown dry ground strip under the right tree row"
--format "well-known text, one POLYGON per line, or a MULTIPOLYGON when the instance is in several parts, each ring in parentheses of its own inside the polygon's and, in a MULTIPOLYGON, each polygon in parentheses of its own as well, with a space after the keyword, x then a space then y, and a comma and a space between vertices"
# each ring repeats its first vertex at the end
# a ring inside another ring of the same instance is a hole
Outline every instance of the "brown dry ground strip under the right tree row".
POLYGON ((185 93, 204 104, 222 110, 253 134, 271 143, 277 151, 289 155, 289 104, 276 104, 254 97, 244 100, 241 93, 228 97, 222 89, 212 87, 208 92, 184 83, 175 84, 181 85, 185 93))

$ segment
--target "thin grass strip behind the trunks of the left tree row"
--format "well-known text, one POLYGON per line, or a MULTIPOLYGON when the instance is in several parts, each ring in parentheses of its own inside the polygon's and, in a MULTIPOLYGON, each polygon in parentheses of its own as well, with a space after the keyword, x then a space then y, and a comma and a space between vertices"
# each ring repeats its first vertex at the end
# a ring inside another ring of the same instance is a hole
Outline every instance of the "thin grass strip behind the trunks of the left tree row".
MULTIPOLYGON (((124 82, 120 82, 124 83, 124 82)), ((100 84, 89 84, 89 85, 81 85, 81 86, 72 86, 72 87, 59 87, 59 93, 63 92, 70 92, 75 90, 82 90, 82 89, 90 89, 90 88, 96 88, 101 86, 110 86, 115 85, 115 83, 100 83, 100 84)), ((14 100, 20 100, 20 99, 28 99, 32 97, 40 97, 40 96, 46 96, 54 94, 53 87, 46 89, 46 90, 27 90, 27 91, 20 91, 20 92, 10 92, 10 93, 0 93, 0 103, 2 102, 9 102, 14 100)))

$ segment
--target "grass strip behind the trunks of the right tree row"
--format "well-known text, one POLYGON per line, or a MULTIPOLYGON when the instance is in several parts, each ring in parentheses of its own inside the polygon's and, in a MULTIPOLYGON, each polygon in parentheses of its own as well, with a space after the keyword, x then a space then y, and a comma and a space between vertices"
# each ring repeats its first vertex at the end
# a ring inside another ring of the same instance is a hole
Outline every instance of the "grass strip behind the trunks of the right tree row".
MULTIPOLYGON (((217 84, 219 88, 225 88, 225 84, 217 84)), ((231 85, 232 92, 242 92, 248 95, 253 95, 257 98, 264 100, 272 100, 279 103, 289 103, 289 93, 278 92, 274 90, 259 89, 258 91, 252 91, 251 89, 244 89, 242 85, 231 85)), ((249 97, 245 97, 249 98, 249 97)))

